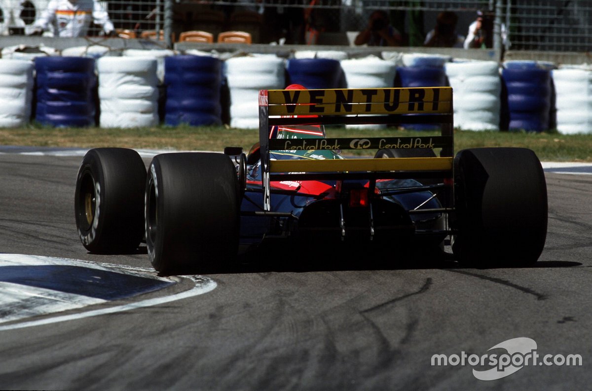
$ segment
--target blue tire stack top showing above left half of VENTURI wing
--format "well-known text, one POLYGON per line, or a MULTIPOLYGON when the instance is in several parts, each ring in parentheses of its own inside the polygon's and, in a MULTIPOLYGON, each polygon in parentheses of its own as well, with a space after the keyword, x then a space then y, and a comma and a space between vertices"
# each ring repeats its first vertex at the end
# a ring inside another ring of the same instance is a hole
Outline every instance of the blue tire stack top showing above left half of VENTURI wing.
POLYGON ((345 88, 341 64, 331 58, 292 58, 287 72, 287 84, 302 84, 309 90, 345 88))

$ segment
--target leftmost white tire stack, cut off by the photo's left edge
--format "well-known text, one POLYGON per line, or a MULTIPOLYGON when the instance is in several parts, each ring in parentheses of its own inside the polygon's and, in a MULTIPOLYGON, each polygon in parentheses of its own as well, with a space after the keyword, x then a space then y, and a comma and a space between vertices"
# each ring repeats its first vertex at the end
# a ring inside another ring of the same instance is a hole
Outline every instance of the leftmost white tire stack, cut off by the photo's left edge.
POLYGON ((33 103, 33 62, 0 60, 0 128, 25 126, 33 103))

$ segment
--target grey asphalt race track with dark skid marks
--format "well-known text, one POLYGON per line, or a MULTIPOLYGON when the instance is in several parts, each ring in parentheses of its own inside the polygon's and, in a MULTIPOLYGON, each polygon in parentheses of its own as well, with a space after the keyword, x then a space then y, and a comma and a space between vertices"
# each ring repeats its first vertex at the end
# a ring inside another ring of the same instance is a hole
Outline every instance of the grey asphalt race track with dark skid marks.
MULTIPOLYGON (((155 277, 144 248, 111 256, 82 247, 73 219, 79 155, 29 152, 0 154, 0 258, 78 259, 155 277)), ((387 263, 285 249, 310 265, 276 253, 205 280, 0 319, 0 389, 589 389, 590 172, 548 169, 549 229, 536 267, 402 262, 397 249, 387 263), (204 281, 215 284, 173 297, 204 281), (488 350, 518 337, 536 341, 540 357, 580 354, 583 365, 520 366, 484 381, 469 364, 431 363, 434 354, 501 354, 488 350)))

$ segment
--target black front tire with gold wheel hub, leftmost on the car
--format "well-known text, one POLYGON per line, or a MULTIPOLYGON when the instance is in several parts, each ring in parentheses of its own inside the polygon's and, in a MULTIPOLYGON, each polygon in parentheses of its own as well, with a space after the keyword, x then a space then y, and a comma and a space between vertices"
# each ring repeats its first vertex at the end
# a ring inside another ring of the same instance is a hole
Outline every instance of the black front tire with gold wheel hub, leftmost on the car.
POLYGON ((95 148, 82 159, 74 209, 82 245, 90 252, 126 253, 144 236, 146 166, 127 148, 95 148))

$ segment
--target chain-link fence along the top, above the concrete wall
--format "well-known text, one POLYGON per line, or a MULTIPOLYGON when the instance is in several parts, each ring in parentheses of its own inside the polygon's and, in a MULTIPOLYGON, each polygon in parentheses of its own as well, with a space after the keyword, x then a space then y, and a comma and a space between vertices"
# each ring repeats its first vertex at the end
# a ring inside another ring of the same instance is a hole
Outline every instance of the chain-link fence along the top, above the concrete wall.
MULTIPOLYGON (((4 35, 30 34, 49 0, 0 0, 4 35)), ((172 26, 172 41, 183 31, 243 30, 253 43, 305 44, 307 33, 353 36, 368 25, 372 11, 382 9, 404 37, 404 45, 424 44, 437 15, 452 11, 456 32, 469 34, 477 11, 483 12, 488 47, 502 50, 585 52, 592 49, 592 0, 390 1, 390 0, 111 0, 100 1, 118 31, 140 38, 172 26), (169 6, 170 12, 165 12, 169 6)), ((47 34, 47 33, 46 33, 47 34)), ((92 26, 89 35, 102 34, 92 26)))

